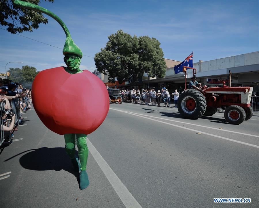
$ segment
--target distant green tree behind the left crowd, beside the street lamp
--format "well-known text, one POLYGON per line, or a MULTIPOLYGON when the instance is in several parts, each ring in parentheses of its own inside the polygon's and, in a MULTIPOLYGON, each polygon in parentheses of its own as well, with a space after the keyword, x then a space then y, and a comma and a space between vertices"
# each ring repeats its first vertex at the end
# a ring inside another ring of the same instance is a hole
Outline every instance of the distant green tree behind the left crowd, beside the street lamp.
POLYGON ((22 69, 10 68, 8 72, 10 72, 10 80, 21 83, 25 88, 31 88, 34 78, 39 73, 35 67, 28 65, 22 66, 22 69))

